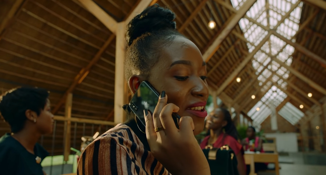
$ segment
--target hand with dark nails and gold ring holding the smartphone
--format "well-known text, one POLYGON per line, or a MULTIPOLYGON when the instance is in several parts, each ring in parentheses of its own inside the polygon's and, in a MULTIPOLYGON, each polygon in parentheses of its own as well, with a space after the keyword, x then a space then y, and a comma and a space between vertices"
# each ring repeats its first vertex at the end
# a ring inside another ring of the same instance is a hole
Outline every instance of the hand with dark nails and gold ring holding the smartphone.
POLYGON ((154 157, 175 175, 201 174, 210 175, 210 168, 195 136, 193 120, 190 116, 180 119, 180 128, 173 126, 171 115, 179 110, 173 103, 167 104, 163 92, 153 115, 146 118, 146 137, 154 157), (163 130, 155 131, 155 128, 163 130))

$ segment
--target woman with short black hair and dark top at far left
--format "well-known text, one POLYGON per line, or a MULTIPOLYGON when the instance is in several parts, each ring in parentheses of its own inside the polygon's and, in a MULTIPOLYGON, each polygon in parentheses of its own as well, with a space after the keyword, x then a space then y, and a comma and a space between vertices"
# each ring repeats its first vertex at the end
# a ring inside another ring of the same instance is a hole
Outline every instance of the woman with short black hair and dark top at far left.
POLYGON ((0 113, 11 128, 0 138, 1 175, 44 175, 42 160, 49 153, 37 143, 52 133, 49 92, 39 88, 16 88, 0 97, 0 113))

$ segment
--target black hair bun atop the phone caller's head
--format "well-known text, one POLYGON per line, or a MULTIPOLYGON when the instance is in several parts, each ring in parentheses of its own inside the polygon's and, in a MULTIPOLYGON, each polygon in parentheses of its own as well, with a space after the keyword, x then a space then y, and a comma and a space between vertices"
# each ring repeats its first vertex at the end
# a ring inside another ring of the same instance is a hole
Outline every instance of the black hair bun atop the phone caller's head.
POLYGON ((130 46, 135 39, 143 34, 164 29, 176 29, 174 19, 175 14, 171 10, 160 7, 158 4, 147 7, 129 22, 126 32, 128 45, 130 46))

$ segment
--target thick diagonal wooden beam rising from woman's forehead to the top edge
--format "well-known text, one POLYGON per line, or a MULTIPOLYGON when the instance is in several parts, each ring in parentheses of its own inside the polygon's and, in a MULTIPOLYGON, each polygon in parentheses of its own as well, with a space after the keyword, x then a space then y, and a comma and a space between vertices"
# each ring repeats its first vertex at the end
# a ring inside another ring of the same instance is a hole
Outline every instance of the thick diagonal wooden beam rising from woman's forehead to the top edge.
POLYGON ((256 2, 257 0, 247 0, 237 11, 237 13, 233 14, 228 22, 226 22, 222 29, 218 32, 218 36, 215 39, 215 41, 212 43, 210 47, 205 51, 203 54, 204 60, 207 62, 209 59, 212 58, 212 56, 215 54, 215 52, 220 47, 220 44, 224 41, 224 39, 230 34, 232 29, 235 27, 235 25, 238 24, 239 20, 245 15, 245 13, 251 8, 251 6, 256 2))

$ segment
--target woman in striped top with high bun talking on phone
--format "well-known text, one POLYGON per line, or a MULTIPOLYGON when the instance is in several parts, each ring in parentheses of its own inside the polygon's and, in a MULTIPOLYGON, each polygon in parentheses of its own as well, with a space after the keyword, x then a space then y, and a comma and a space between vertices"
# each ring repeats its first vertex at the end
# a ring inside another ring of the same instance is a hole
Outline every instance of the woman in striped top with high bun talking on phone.
POLYGON ((210 174, 194 137, 207 115, 206 64, 198 47, 176 30, 174 19, 172 11, 155 4, 129 22, 127 82, 133 94, 142 81, 149 82, 160 93, 157 106, 144 111, 146 127, 127 108, 125 124, 86 147, 78 174, 210 174), (172 112, 181 116, 179 129, 172 112))

